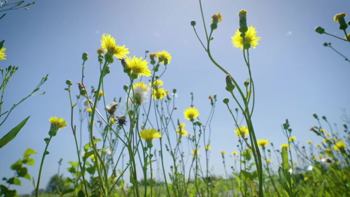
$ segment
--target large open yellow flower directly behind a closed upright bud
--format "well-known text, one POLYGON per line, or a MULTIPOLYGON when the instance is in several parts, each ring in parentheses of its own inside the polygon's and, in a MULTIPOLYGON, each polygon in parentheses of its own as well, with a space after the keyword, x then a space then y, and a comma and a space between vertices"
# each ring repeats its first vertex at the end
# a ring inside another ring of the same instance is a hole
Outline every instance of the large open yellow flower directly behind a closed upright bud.
POLYGON ((243 46, 243 37, 240 36, 240 32, 239 30, 237 30, 235 32, 235 35, 232 36, 232 45, 235 48, 240 48, 241 50, 244 49, 249 49, 250 47, 253 47, 255 49, 255 46, 258 45, 258 40, 260 39, 260 37, 256 37, 256 31, 255 28, 250 26, 248 28, 248 31, 245 33, 245 47, 243 46))

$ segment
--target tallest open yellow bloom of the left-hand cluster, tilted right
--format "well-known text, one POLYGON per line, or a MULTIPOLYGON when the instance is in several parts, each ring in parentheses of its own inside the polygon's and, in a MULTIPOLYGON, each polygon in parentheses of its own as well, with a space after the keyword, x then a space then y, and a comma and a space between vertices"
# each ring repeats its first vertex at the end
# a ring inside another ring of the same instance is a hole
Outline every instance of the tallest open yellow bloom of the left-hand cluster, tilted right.
POLYGON ((114 37, 112 37, 110 34, 102 35, 101 48, 106 50, 107 53, 113 54, 118 59, 122 59, 126 57, 126 54, 129 54, 129 51, 127 48, 125 48, 125 45, 116 45, 116 39, 114 39, 114 37))

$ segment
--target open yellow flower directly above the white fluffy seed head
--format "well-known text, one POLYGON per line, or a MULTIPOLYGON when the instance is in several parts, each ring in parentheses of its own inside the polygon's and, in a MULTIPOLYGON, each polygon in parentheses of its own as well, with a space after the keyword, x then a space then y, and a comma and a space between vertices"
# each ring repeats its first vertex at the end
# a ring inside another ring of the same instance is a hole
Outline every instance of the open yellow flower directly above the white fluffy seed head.
POLYGON ((134 57, 126 57, 125 59, 127 67, 130 68, 131 74, 135 75, 137 77, 140 77, 140 75, 144 75, 146 77, 151 75, 151 72, 148 70, 147 66, 147 60, 142 60, 142 57, 137 58, 134 57))

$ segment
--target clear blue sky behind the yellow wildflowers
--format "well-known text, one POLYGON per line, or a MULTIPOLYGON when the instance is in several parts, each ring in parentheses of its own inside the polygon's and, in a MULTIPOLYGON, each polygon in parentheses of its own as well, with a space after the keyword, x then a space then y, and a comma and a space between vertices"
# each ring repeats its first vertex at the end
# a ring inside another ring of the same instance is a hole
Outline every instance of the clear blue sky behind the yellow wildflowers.
MULTIPOLYGON (((248 25, 256 27, 261 37, 250 54, 256 84, 253 121, 258 138, 267 138, 279 146, 286 141, 280 124, 288 118, 297 140, 319 141, 309 132, 316 124, 313 113, 342 124, 341 108, 350 108, 350 92, 346 88, 350 83, 350 64, 322 43, 332 42, 333 47, 350 57, 349 45, 319 35, 314 28, 322 26, 327 32, 343 37, 333 16, 339 12, 350 14, 349 1, 204 0, 203 4, 208 24, 212 14, 222 12, 224 20, 214 32, 211 51, 237 81, 247 78, 242 52, 230 42, 238 28, 240 9, 248 10, 248 25)), ((217 95, 210 165, 216 174, 223 174, 220 151, 236 150, 237 143, 233 121, 222 103, 222 99, 229 96, 225 91, 225 75, 209 61, 189 25, 191 20, 197 21, 196 29, 204 38, 198 1, 37 1, 28 11, 9 12, 0 20, 0 37, 6 39, 7 48, 7 60, 0 63, 1 68, 13 64, 19 66, 19 70, 6 90, 5 108, 27 95, 42 76, 49 74, 49 80, 42 86, 47 94, 32 97, 18 106, 1 128, 0 136, 3 136, 31 115, 15 140, 0 149, 0 178, 12 176, 10 164, 21 157, 27 147, 39 152, 34 156, 35 166, 29 167, 31 176, 37 177, 45 148, 42 139, 48 136, 50 127, 48 119, 70 117, 68 94, 63 89, 67 79, 79 82, 82 52, 90 55, 86 63, 86 83, 97 85, 96 49, 102 33, 110 33, 119 45, 126 45, 130 55, 144 56, 145 50, 163 49, 171 53, 171 64, 163 81, 166 89, 178 89, 176 118, 183 120, 182 112, 190 104, 190 92, 194 93, 194 104, 202 119, 209 113, 208 95, 217 95)), ((125 98, 122 88, 127 78, 119 62, 112 64, 105 83, 107 100, 125 98)), ((77 92, 76 86, 74 91, 77 92)), ((63 158, 61 171, 65 171, 68 161, 77 160, 69 127, 59 130, 49 151, 42 187, 56 173, 60 158, 63 158)), ((233 162, 227 163, 230 166, 233 162)), ((33 190, 31 181, 23 180, 22 184, 16 187, 19 193, 33 190)))

